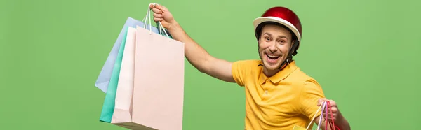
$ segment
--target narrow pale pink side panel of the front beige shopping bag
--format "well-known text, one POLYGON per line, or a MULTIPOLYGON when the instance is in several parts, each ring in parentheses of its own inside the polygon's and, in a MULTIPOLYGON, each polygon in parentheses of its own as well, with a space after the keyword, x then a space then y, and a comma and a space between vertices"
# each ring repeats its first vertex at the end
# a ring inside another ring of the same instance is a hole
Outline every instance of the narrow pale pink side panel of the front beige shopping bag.
POLYGON ((116 89, 114 113, 111 120, 112 124, 131 122, 131 103, 135 71, 135 36, 136 29, 134 27, 128 27, 123 58, 121 60, 119 82, 116 89))

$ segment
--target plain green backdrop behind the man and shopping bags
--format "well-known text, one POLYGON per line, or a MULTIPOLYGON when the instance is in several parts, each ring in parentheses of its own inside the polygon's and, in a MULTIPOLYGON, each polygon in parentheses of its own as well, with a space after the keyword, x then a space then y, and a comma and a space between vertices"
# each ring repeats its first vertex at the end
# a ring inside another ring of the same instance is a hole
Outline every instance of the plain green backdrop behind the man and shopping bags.
MULTIPOLYGON (((253 20, 300 16, 298 66, 352 129, 420 129, 420 1, 0 1, 0 129, 123 129, 100 122, 94 86, 127 17, 171 10, 211 55, 258 59, 253 20)), ((183 129, 243 129, 244 90, 185 65, 183 129), (226 117, 223 117, 226 116, 226 117)))

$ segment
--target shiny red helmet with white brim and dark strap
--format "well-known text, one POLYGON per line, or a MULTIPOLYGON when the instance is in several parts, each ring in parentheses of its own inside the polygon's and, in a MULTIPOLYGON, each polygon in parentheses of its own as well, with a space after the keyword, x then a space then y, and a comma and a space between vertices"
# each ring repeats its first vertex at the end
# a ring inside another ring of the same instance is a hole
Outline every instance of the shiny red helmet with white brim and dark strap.
MULTIPOLYGON (((302 36, 302 27, 300 19, 298 18, 295 13, 285 7, 273 7, 266 10, 263 13, 262 17, 258 17, 253 21, 255 31, 256 31, 256 38, 259 38, 261 25, 264 22, 276 22, 282 24, 283 26, 287 27, 291 32, 293 32, 293 36, 297 38, 297 48, 295 48, 294 53, 298 50, 300 46, 301 36, 302 36)), ((295 45, 294 45, 295 46, 295 45)), ((295 55, 295 54, 293 54, 295 55)))

